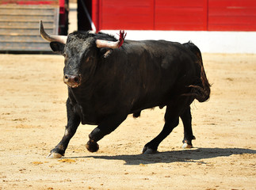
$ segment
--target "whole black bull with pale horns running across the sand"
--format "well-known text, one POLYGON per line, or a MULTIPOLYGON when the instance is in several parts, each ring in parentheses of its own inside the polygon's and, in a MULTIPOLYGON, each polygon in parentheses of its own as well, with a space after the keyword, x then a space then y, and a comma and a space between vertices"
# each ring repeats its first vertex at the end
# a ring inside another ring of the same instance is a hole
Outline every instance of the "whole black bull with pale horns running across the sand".
POLYGON ((192 147, 195 137, 189 105, 194 99, 207 101, 210 95, 197 46, 125 40, 120 48, 109 48, 98 42, 122 43, 103 33, 73 32, 59 40, 59 36, 44 33, 43 25, 40 30, 44 39, 52 41, 52 50, 65 56, 64 82, 68 86, 65 135, 48 158, 65 154, 80 123, 97 125, 86 144, 94 152, 99 148, 97 141, 114 131, 128 114, 137 117, 141 110, 155 106, 166 106, 165 124, 143 147, 143 153, 155 153, 159 143, 178 126, 179 117, 184 125, 183 147, 192 147))

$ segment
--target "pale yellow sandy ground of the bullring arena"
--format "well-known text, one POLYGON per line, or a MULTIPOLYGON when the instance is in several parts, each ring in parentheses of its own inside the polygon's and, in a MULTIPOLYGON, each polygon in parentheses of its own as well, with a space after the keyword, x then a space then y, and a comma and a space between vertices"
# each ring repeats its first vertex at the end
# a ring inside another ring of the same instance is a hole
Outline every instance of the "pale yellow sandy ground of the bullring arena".
POLYGON ((193 149, 181 124, 143 155, 162 130, 164 108, 129 116, 90 153, 95 126, 80 125, 66 157, 45 157, 66 125, 60 55, 0 55, 0 189, 256 189, 256 55, 204 54, 208 102, 193 102, 193 149))

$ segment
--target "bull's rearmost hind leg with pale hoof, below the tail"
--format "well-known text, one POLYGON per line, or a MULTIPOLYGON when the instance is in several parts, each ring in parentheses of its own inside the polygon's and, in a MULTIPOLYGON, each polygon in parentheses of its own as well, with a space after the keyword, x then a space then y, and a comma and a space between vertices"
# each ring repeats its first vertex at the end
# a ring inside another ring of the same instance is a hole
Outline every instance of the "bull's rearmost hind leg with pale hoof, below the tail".
POLYGON ((192 148, 192 140, 196 139, 193 136, 192 126, 191 126, 191 112, 190 112, 190 106, 185 109, 185 111, 181 114, 181 120, 184 126, 184 139, 183 139, 183 145, 182 148, 192 148))

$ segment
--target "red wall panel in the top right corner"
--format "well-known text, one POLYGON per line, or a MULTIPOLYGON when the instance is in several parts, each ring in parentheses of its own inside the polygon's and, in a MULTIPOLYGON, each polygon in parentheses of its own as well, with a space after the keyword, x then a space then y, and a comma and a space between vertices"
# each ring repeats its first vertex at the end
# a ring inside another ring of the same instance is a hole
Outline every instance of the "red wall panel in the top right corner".
POLYGON ((208 0, 208 30, 256 31, 256 1, 208 0))

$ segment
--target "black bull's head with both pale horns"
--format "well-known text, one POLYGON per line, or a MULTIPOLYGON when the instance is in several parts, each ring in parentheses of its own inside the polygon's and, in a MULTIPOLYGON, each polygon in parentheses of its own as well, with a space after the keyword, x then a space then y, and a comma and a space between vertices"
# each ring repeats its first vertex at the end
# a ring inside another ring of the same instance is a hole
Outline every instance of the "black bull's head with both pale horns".
MULTIPOLYGON (((86 32, 73 32, 68 36, 49 35, 44 31, 40 21, 40 35, 50 41, 52 51, 65 57, 63 81, 67 86, 76 88, 94 72, 97 63, 97 53, 100 48, 115 49, 124 43, 124 32, 120 31, 120 39, 99 40, 97 35, 86 32)), ((108 55, 109 50, 105 51, 108 55)))

